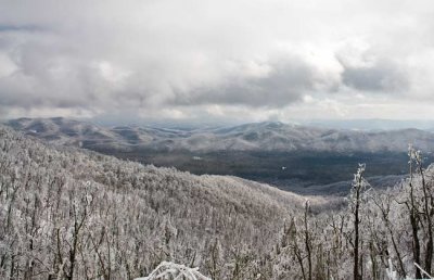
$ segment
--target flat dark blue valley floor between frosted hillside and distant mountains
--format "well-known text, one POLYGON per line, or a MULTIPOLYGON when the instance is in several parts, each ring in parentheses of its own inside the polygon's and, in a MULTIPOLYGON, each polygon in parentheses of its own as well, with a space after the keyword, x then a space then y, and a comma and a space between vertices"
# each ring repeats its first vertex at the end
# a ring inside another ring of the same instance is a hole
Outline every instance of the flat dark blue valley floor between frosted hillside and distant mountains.
MULTIPOLYGON (((254 181, 270 183, 281 190, 301 194, 346 195, 353 173, 359 163, 366 163, 367 176, 372 183, 382 187, 379 178, 396 182, 408 173, 407 153, 332 153, 332 152, 208 152, 189 151, 95 151, 119 158, 174 166, 196 175, 216 174, 237 176, 254 181), (339 186, 339 188, 336 188, 339 186)), ((426 162, 432 162, 426 156, 426 162)))

